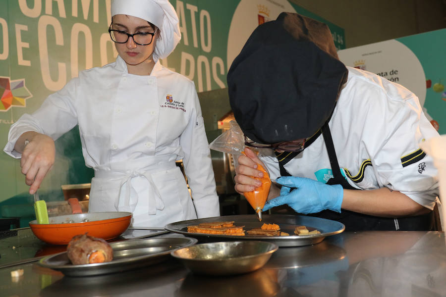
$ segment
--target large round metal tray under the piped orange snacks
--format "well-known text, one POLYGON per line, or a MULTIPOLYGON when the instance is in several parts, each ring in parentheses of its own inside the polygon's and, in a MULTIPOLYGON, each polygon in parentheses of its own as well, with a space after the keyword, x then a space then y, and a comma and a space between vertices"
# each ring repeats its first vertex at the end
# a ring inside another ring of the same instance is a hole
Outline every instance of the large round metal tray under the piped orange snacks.
POLYGON ((228 240, 262 240, 271 241, 279 247, 299 247, 318 244, 324 240, 327 236, 335 235, 344 231, 345 226, 337 221, 311 217, 311 216, 299 216, 299 215, 263 215, 262 222, 259 222, 257 216, 254 214, 246 215, 227 215, 220 217, 196 219, 181 221, 168 224, 165 227, 170 232, 183 234, 188 237, 196 238, 202 242, 213 241, 228 241, 228 240), (234 221, 236 226, 245 226, 245 231, 260 228, 263 223, 275 223, 280 226, 280 230, 289 233, 290 236, 254 236, 245 232, 245 236, 232 236, 232 235, 215 235, 215 234, 201 234, 201 233, 189 233, 187 232, 187 226, 198 225, 206 222, 224 222, 234 221), (317 229, 321 234, 298 236, 294 235, 293 231, 296 225, 305 225, 308 230, 312 231, 317 229))

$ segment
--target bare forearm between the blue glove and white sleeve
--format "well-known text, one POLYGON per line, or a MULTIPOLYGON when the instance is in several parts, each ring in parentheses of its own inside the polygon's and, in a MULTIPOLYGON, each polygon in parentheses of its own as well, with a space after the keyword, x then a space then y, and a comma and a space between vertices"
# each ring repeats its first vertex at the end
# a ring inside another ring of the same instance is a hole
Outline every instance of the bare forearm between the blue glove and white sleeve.
POLYGON ((406 195, 388 188, 376 190, 344 190, 342 209, 382 217, 421 215, 430 209, 406 195))

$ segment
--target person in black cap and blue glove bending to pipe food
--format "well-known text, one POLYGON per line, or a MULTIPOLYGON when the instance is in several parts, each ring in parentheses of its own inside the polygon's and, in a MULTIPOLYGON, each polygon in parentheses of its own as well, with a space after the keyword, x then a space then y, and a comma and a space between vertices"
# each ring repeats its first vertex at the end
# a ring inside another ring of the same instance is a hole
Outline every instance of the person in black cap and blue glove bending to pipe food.
POLYGON ((433 228, 437 170, 418 144, 437 131, 409 90, 345 67, 325 24, 281 13, 260 25, 227 83, 245 145, 272 148, 245 149, 237 192, 259 186, 260 163, 281 186, 264 211, 287 204, 349 231, 433 228))

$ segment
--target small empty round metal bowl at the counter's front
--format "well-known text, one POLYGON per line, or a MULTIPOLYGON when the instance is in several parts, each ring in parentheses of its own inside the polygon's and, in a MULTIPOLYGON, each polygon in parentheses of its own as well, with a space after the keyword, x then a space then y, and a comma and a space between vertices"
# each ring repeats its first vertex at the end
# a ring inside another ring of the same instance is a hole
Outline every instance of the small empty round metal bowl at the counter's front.
POLYGON ((183 247, 170 254, 193 273, 233 275, 261 268, 278 248, 263 241, 235 241, 183 247))

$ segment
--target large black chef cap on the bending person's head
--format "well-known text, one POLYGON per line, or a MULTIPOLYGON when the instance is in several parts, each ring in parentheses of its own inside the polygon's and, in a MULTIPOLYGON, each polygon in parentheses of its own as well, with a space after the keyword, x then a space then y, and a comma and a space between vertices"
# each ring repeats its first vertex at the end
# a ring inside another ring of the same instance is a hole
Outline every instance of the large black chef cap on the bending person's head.
POLYGON ((227 85, 243 133, 273 144, 317 132, 346 79, 328 26, 281 13, 254 30, 228 71, 227 85))

